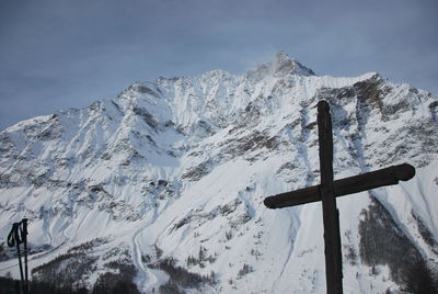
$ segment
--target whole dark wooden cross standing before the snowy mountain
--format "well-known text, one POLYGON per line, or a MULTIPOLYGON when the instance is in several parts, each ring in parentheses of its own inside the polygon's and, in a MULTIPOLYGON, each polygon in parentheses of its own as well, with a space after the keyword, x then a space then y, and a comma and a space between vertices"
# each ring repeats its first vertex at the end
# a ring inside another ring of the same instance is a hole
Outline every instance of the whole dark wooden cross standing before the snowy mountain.
POLYGON ((266 197, 268 208, 281 208, 322 201, 324 223, 325 278, 327 294, 342 294, 342 252, 336 197, 378 186, 396 184, 415 176, 415 168, 403 163, 333 181, 333 135, 328 103, 318 102, 321 184, 266 197))

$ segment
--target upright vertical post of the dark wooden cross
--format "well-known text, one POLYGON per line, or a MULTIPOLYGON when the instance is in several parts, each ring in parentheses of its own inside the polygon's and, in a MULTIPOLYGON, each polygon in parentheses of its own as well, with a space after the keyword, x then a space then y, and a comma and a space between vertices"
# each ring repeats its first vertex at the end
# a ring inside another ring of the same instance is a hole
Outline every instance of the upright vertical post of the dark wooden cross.
POLYGON ((339 214, 333 189, 333 134, 328 103, 318 103, 318 133, 320 144, 320 194, 324 223, 325 276, 327 294, 342 294, 342 252, 339 214))

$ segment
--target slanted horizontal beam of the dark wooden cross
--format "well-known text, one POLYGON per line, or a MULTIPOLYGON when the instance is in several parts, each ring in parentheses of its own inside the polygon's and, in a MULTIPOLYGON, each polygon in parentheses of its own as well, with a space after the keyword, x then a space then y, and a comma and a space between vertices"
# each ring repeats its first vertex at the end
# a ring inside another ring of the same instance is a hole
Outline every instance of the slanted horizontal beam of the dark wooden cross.
MULTIPOLYGON (((336 180, 333 182, 333 190, 335 196, 338 197, 379 186, 396 184, 399 181, 408 181, 414 176, 415 168, 408 163, 403 163, 336 180)), ((266 197, 264 204, 268 208, 283 208, 318 201, 321 201, 320 185, 313 185, 266 197)))

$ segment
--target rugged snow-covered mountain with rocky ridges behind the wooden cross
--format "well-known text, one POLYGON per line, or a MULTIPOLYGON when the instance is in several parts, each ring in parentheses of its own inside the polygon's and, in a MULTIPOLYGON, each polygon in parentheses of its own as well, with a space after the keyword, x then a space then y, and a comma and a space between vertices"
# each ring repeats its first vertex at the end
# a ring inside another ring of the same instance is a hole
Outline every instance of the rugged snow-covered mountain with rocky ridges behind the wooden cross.
POLYGON ((0 275, 20 276, 4 242, 27 217, 34 280, 325 293, 321 205, 263 205, 319 183, 321 99, 333 115, 335 179, 416 168, 408 182, 338 199, 344 292, 399 293, 422 269, 434 279, 437 97, 373 72, 315 76, 285 54, 242 76, 136 82, 114 100, 1 132, 0 275))

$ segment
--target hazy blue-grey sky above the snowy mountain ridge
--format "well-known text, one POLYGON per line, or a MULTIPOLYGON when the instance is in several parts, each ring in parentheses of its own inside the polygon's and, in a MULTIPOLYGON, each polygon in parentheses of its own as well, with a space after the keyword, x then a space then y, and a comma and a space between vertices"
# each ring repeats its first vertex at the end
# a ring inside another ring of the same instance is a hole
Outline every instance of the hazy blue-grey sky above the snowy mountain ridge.
POLYGON ((242 74, 284 50, 316 75, 438 93, 436 0, 1 0, 0 129, 137 80, 242 74))

